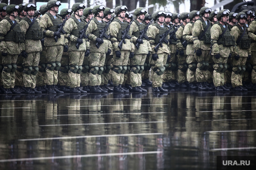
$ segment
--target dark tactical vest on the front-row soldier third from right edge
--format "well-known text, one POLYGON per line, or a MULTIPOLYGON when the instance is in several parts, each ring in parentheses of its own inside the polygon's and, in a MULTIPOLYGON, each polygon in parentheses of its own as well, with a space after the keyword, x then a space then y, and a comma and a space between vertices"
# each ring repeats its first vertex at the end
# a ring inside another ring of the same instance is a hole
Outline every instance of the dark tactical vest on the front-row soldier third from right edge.
MULTIPOLYGON (((215 22, 214 24, 218 24, 221 27, 222 33, 226 29, 223 27, 223 25, 219 21, 215 22)), ((227 27, 226 32, 224 33, 223 36, 219 37, 217 43, 218 43, 218 45, 222 44, 224 47, 234 46, 235 45, 235 37, 231 36, 228 24, 225 24, 225 26, 227 27)))

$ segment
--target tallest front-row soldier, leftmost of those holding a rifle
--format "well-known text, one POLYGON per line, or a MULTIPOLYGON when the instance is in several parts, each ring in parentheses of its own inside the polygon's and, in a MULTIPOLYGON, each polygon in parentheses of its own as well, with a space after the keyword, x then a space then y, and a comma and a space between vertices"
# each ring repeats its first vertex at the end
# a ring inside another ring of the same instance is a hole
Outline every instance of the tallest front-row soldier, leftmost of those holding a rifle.
POLYGON ((62 32, 58 32, 58 25, 62 23, 62 18, 57 14, 59 12, 60 1, 50 0, 47 3, 47 9, 50 12, 45 13, 40 19, 40 27, 45 35, 44 46, 46 47, 46 88, 48 94, 64 93, 57 89, 58 70, 60 69, 60 59, 63 53, 65 39, 62 32), (57 36, 57 43, 54 37, 57 36))

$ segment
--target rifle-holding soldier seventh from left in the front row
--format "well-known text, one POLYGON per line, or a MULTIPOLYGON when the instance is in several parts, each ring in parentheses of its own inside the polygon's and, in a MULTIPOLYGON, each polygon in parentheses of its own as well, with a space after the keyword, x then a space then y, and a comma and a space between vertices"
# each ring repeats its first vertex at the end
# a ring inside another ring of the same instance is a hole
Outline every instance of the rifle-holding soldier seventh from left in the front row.
MULTIPOLYGON (((139 44, 139 48, 136 48, 134 51, 134 57, 131 58, 131 86, 132 92, 135 93, 147 92, 147 90, 141 88, 141 73, 144 70, 146 57, 147 55, 150 55, 150 51, 152 50, 147 39, 144 37, 142 39, 139 38, 140 32, 143 31, 146 27, 146 24, 143 22, 143 20, 147 12, 148 11, 145 8, 135 9, 134 15, 136 19, 134 22, 132 22, 129 30, 134 45, 137 43, 139 44)), ((147 36, 147 34, 145 35, 147 36)))

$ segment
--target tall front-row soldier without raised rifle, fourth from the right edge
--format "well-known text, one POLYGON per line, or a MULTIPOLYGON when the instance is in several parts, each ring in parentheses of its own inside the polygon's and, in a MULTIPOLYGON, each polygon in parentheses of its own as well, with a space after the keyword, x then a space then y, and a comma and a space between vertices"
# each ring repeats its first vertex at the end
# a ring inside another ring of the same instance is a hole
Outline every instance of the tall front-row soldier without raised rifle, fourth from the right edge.
POLYGON ((206 82, 208 79, 207 69, 209 67, 210 46, 211 46, 211 23, 208 20, 211 8, 202 7, 199 14, 201 18, 197 19, 193 26, 193 42, 196 50, 195 59, 197 63, 196 69, 196 81, 198 82, 199 90, 212 90, 213 88, 208 87, 206 82))

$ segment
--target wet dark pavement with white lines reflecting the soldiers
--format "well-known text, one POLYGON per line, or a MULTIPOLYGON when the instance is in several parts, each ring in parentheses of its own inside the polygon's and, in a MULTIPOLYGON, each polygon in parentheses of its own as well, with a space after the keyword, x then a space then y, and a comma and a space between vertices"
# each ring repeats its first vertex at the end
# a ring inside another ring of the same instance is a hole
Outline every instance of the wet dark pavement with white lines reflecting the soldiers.
POLYGON ((216 169, 256 156, 256 92, 0 95, 0 169, 216 169))

